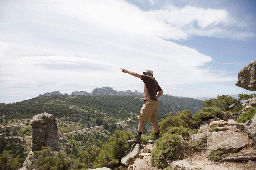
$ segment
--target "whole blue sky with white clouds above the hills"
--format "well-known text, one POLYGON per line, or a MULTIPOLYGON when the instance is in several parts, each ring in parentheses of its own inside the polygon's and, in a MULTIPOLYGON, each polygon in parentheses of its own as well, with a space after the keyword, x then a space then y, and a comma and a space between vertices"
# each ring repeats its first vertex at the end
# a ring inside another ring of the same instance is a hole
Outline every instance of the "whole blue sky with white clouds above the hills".
POLYGON ((165 94, 253 93, 235 86, 256 59, 255 1, 2 0, 0 102, 96 87, 141 91, 120 68, 153 70, 165 94))

